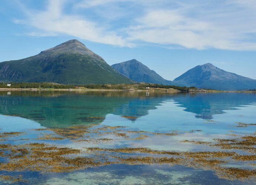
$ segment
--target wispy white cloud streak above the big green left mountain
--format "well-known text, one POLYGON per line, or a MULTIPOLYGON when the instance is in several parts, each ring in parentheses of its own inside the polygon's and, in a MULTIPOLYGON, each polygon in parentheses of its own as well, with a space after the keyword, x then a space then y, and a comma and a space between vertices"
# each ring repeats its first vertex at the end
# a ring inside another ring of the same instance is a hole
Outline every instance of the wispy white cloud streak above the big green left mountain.
POLYGON ((81 39, 112 44, 116 46, 128 46, 132 44, 125 41, 124 38, 117 36, 114 31, 108 31, 104 27, 99 26, 95 22, 86 20, 81 16, 68 15, 62 13, 62 6, 64 1, 55 0, 49 1, 47 10, 45 11, 30 11, 29 18, 24 20, 15 20, 15 23, 23 23, 35 27, 39 30, 45 31, 30 32, 29 35, 33 36, 47 36, 56 34, 66 34, 81 39))

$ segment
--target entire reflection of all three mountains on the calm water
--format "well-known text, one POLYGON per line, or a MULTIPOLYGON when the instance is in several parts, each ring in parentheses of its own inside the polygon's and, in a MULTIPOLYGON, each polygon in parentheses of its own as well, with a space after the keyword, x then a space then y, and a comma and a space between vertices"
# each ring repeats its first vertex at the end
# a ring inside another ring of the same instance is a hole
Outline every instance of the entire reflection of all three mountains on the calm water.
POLYGON ((18 116, 39 122, 44 127, 69 127, 88 123, 100 124, 107 114, 126 117, 131 121, 157 109, 173 99, 184 111, 196 118, 213 119, 225 110, 256 102, 251 93, 150 93, 145 92, 61 92, 13 91, 0 92, 0 114, 18 116), (130 117, 130 118, 129 118, 130 117))

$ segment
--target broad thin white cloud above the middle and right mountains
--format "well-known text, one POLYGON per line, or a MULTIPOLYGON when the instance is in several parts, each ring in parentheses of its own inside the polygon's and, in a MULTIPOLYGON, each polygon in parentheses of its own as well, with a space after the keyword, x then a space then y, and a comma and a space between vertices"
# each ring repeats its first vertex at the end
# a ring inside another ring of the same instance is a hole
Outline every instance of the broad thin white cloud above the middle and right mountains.
POLYGON ((256 50, 256 42, 250 41, 256 37, 249 36, 256 34, 251 13, 245 13, 237 4, 213 6, 213 12, 206 12, 206 6, 209 4, 151 9, 137 19, 135 29, 128 30, 130 39, 197 49, 256 50))

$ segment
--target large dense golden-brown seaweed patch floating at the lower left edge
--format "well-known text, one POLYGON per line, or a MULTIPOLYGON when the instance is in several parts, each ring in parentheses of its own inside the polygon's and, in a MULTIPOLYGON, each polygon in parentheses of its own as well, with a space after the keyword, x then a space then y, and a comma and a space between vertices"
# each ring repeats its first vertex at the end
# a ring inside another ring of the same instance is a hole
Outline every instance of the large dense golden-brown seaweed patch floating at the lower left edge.
POLYGON ((99 164, 94 162, 95 158, 78 157, 79 149, 49 144, 8 145, 3 152, 9 157, 7 162, 0 164, 3 171, 67 172, 99 164))

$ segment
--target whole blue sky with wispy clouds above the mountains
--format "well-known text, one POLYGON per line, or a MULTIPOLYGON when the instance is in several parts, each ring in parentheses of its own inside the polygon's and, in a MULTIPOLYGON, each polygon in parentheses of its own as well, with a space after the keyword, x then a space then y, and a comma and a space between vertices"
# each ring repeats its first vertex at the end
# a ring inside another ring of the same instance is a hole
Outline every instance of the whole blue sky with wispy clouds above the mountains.
POLYGON ((78 39, 167 80, 211 63, 256 79, 256 0, 0 0, 0 62, 78 39))

